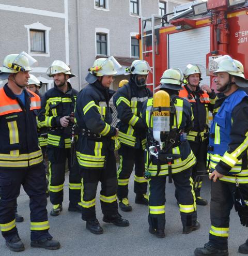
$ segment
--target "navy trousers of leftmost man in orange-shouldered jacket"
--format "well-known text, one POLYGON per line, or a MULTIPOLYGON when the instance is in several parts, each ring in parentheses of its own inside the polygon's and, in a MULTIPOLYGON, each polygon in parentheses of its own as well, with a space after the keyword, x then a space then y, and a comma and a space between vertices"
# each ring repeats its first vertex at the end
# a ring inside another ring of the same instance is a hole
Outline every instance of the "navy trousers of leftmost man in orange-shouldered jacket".
POLYGON ((45 169, 40 163, 26 169, 0 169, 0 228, 6 240, 18 234, 15 225, 15 206, 21 185, 29 196, 31 240, 49 238, 46 210, 45 169))

